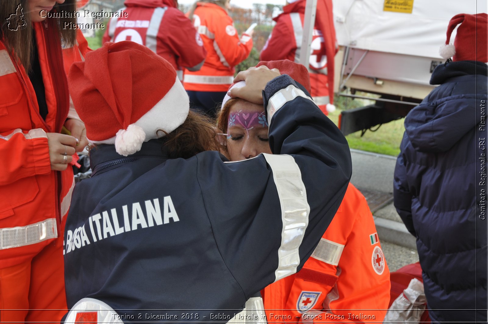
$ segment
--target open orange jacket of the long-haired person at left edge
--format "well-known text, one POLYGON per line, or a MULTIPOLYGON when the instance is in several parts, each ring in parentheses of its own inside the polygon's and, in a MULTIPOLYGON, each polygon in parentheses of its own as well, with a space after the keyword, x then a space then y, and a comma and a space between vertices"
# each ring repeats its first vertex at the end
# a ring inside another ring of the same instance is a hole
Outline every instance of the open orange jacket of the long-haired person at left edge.
POLYGON ((78 118, 65 73, 88 46, 78 31, 75 46, 61 50, 59 39, 48 33, 52 23, 33 23, 48 107, 45 121, 27 72, 0 41, 0 268, 29 261, 62 235, 61 219, 74 187, 70 166, 51 170, 46 132, 60 133, 67 118, 78 118))

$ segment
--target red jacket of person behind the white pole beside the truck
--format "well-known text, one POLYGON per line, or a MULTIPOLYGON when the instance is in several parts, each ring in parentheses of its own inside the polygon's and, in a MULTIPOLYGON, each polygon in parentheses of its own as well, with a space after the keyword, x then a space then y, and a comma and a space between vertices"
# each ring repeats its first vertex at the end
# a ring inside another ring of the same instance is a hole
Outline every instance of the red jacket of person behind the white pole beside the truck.
MULTIPOLYGON (((305 0, 283 7, 283 13, 274 18, 276 25, 260 54, 260 61, 290 60, 300 63, 304 36, 305 0)), ((332 16, 332 1, 317 2, 317 16, 312 35, 312 53, 308 72, 313 100, 326 113, 327 103, 334 101, 334 56, 337 53, 332 16)))

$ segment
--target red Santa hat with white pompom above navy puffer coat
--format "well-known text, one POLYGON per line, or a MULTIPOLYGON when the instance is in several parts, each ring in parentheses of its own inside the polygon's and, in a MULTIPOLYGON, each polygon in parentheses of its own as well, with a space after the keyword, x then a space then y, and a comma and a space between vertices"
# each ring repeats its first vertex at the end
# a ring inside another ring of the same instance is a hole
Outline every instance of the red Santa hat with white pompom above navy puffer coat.
POLYGON ((452 61, 480 61, 488 62, 487 51, 487 14, 459 14, 451 18, 447 26, 446 44, 439 49, 439 54, 445 60, 452 57, 452 61), (449 44, 452 31, 459 25, 454 39, 454 45, 449 44))

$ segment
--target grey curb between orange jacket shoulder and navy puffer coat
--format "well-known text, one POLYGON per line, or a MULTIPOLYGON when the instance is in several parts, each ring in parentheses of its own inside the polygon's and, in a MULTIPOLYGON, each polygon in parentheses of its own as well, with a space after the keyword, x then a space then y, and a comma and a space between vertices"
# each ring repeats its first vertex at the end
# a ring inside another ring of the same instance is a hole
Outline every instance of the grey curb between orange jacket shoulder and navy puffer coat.
POLYGON ((381 241, 417 250, 415 237, 408 232, 407 227, 403 223, 377 216, 374 217, 374 223, 381 241))

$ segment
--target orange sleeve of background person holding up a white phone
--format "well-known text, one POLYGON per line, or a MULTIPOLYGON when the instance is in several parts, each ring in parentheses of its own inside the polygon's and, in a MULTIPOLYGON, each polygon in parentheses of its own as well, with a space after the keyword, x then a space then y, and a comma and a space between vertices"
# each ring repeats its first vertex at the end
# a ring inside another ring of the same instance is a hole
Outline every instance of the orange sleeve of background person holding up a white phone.
POLYGON ((214 23, 214 48, 221 62, 232 68, 247 59, 252 49, 252 38, 243 34, 239 39, 234 23, 228 16, 214 23))

